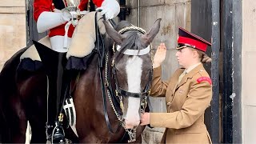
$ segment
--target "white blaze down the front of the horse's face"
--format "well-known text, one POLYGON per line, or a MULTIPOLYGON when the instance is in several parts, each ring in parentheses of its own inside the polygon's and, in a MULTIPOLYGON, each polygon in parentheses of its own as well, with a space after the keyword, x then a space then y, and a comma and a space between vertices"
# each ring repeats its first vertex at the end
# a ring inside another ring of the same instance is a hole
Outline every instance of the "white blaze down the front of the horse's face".
MULTIPOLYGON (((142 58, 134 56, 126 62, 126 74, 128 82, 128 91, 139 93, 141 90, 142 78, 142 58)), ((128 108, 125 116, 126 125, 138 126, 140 116, 138 110, 140 107, 140 98, 128 98, 128 108)))

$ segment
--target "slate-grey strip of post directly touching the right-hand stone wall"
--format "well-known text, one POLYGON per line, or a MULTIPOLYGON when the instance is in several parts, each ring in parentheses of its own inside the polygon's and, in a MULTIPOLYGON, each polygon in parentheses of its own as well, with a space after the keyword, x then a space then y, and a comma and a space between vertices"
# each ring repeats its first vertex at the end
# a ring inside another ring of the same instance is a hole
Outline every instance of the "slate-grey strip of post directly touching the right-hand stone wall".
POLYGON ((242 143, 242 1, 233 1, 234 14, 234 82, 233 82, 233 142, 242 143), (235 95, 234 95, 235 94, 235 95))

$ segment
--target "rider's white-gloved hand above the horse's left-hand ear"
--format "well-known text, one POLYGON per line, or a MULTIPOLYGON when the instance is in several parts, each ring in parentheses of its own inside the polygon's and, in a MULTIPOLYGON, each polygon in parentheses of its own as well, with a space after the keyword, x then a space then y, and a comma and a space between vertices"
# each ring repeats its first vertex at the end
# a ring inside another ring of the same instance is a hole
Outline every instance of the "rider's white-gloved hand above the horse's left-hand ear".
POLYGON ((120 12, 119 3, 116 0, 104 0, 102 6, 98 7, 96 10, 102 10, 102 16, 105 14, 106 20, 115 18, 120 12))

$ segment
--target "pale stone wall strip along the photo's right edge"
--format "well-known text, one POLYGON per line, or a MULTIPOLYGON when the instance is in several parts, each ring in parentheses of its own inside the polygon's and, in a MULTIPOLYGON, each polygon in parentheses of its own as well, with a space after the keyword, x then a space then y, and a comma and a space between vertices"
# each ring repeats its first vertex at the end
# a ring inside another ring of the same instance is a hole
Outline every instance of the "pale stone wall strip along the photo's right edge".
POLYGON ((242 143, 256 142, 256 1, 242 1, 242 143))

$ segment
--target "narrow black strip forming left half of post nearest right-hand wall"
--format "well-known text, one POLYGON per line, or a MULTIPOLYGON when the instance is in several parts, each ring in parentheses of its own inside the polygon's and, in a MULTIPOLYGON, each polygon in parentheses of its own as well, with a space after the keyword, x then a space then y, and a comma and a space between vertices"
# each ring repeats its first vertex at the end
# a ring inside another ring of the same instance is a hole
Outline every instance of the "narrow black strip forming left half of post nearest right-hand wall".
POLYGON ((233 90, 232 82, 232 43, 233 43, 233 1, 223 2, 223 27, 222 27, 222 46, 223 46, 223 142, 233 143, 233 106, 230 95, 233 90))

